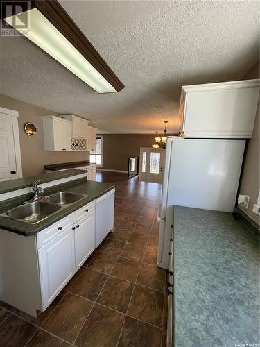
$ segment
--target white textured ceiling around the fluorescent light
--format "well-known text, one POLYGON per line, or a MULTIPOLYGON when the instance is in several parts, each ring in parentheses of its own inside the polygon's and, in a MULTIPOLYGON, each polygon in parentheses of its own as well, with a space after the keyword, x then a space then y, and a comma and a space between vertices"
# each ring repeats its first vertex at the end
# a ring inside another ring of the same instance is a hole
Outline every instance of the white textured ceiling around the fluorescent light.
POLYGON ((24 37, 1 37, 1 94, 100 133, 177 132, 181 85, 237 80, 257 61, 258 1, 60 1, 125 84, 97 94, 24 37))

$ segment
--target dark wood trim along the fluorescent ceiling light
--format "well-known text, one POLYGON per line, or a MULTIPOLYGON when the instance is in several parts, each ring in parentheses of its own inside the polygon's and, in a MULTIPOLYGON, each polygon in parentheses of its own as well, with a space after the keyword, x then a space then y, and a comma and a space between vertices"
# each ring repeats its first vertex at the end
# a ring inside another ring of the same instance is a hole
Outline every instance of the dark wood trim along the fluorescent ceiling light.
POLYGON ((117 92, 125 87, 57 0, 31 0, 30 3, 31 9, 39 10, 117 92))

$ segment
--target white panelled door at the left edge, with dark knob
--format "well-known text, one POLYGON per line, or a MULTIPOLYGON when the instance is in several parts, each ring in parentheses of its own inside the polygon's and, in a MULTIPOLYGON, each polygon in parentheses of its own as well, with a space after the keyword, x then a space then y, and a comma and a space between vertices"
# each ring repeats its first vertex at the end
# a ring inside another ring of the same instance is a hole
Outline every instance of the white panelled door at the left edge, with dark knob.
POLYGON ((0 182, 22 177, 19 112, 0 107, 0 182))

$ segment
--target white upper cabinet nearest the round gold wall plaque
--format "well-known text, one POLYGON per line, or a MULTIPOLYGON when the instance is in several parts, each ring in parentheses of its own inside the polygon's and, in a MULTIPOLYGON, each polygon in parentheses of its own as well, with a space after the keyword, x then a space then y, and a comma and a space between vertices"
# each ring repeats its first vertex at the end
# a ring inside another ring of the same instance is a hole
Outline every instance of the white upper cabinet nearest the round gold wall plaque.
POLYGON ((71 121, 43 116, 45 151, 71 151, 71 121))

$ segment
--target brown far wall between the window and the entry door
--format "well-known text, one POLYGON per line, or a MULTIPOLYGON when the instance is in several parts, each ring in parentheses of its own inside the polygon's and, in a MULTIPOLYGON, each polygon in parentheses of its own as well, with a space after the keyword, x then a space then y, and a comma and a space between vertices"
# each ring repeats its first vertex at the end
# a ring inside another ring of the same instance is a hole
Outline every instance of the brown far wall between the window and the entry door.
POLYGON ((140 147, 151 147, 155 135, 103 135, 102 169, 128 170, 128 157, 139 156, 140 147))

